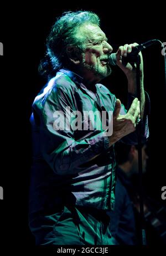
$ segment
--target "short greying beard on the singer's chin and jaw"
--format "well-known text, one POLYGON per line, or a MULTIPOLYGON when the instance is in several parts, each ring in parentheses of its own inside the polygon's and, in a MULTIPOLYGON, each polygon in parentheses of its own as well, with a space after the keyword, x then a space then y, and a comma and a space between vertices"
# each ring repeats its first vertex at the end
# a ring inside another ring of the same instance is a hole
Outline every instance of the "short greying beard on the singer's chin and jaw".
POLYGON ((84 55, 82 56, 82 67, 100 79, 106 78, 112 72, 110 65, 101 65, 100 60, 96 64, 86 63, 84 55))

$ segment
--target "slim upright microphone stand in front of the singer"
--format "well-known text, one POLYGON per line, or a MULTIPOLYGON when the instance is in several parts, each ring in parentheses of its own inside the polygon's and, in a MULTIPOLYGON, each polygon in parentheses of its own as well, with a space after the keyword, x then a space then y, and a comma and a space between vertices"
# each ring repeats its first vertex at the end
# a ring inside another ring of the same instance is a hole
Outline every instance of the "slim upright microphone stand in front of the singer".
MULTIPOLYGON (((140 110, 141 110, 141 88, 140 88, 140 64, 141 57, 137 53, 133 53, 125 58, 124 62, 129 62, 131 64, 136 64, 136 75, 137 75, 137 98, 140 101, 140 110)), ((125 63, 124 63, 125 64, 125 63)), ((141 113, 141 111, 140 111, 141 113)), ((144 208, 143 208, 143 183, 142 183, 142 138, 141 138, 141 129, 142 120, 137 124, 137 137, 138 137, 138 171, 139 171, 139 207, 140 207, 140 223, 141 223, 141 242, 142 245, 146 245, 146 231, 144 228, 144 208)))

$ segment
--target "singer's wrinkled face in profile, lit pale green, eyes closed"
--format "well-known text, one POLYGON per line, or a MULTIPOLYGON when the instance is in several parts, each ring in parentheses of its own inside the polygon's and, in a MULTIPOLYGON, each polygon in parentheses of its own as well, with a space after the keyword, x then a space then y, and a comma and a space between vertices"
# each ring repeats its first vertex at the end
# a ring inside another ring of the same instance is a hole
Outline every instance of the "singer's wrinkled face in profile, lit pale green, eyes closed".
POLYGON ((112 52, 112 47, 107 43, 105 33, 97 25, 86 24, 80 28, 80 33, 87 38, 86 50, 82 54, 81 69, 84 76, 89 75, 89 79, 99 80, 111 74, 108 65, 108 55, 112 52), (90 77, 91 76, 91 77, 90 77))

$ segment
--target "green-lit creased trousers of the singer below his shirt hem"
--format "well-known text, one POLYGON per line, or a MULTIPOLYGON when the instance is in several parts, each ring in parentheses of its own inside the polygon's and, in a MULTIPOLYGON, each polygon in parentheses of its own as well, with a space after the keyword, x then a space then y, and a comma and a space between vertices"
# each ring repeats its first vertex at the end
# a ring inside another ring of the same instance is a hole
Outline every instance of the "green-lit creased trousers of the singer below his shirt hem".
POLYGON ((29 223, 36 245, 114 245, 106 211, 64 206, 54 214, 40 214, 29 223))

